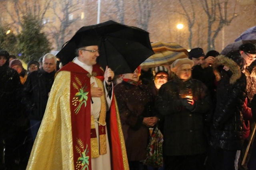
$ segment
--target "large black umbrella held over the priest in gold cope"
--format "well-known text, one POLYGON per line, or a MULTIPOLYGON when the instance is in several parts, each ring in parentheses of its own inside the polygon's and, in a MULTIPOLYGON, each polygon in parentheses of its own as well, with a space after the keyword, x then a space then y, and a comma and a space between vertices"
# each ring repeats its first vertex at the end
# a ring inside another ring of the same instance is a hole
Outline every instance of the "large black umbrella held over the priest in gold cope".
POLYGON ((147 31, 110 20, 80 28, 56 55, 63 65, 76 57, 75 49, 86 36, 99 39, 100 56, 97 63, 103 68, 108 65, 116 75, 134 72, 154 54, 147 31))

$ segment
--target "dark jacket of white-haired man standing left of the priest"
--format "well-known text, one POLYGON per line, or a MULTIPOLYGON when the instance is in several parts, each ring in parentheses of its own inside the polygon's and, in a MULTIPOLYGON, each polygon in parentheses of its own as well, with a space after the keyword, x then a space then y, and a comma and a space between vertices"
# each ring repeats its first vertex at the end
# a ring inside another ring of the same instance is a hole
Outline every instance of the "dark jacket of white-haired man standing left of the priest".
POLYGON ((28 74, 23 88, 22 103, 26 105, 29 119, 42 120, 54 75, 55 71, 48 73, 43 69, 28 74))

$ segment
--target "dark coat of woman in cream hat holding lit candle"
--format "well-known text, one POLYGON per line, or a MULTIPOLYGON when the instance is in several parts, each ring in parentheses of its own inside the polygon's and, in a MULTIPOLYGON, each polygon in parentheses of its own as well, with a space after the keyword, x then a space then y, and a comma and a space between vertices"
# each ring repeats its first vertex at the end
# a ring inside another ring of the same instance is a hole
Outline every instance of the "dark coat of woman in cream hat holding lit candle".
POLYGON ((202 154, 207 150, 204 119, 210 109, 210 94, 199 80, 183 82, 175 77, 163 84, 156 109, 164 116, 163 152, 167 156, 202 154), (193 96, 193 109, 182 105, 182 98, 193 96))

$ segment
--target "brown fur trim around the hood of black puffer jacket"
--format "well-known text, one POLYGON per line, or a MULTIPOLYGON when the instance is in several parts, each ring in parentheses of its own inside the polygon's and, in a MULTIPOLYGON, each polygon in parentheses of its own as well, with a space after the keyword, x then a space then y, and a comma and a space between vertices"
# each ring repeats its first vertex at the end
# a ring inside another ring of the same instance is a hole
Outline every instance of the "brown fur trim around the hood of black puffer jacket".
POLYGON ((214 63, 212 65, 213 68, 213 72, 216 76, 216 80, 219 81, 221 79, 220 77, 220 72, 218 70, 218 66, 228 66, 230 68, 230 71, 232 72, 232 76, 230 77, 230 84, 234 84, 236 82, 236 80, 238 80, 241 77, 241 70, 238 66, 238 64, 236 64, 236 62, 234 62, 232 59, 225 57, 224 55, 219 55, 218 57, 215 58, 214 63))

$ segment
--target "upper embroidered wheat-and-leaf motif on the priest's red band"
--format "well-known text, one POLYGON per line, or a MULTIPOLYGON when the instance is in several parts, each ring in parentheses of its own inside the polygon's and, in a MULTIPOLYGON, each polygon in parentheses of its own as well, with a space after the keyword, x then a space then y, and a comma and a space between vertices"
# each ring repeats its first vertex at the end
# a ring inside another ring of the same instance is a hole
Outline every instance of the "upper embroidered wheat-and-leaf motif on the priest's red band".
POLYGON ((82 87, 82 83, 78 77, 75 76, 75 80, 76 82, 72 82, 72 85, 74 88, 78 90, 78 92, 75 94, 74 98, 72 99, 72 105, 74 106, 78 105, 74 110, 75 113, 77 114, 83 104, 84 104, 84 107, 86 107, 86 102, 88 100, 88 96, 87 96, 88 92, 86 92, 87 86, 84 85, 84 87, 82 87), (78 86, 80 86, 81 88, 79 88, 78 86))

